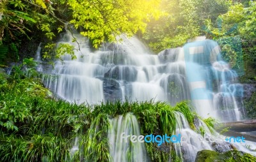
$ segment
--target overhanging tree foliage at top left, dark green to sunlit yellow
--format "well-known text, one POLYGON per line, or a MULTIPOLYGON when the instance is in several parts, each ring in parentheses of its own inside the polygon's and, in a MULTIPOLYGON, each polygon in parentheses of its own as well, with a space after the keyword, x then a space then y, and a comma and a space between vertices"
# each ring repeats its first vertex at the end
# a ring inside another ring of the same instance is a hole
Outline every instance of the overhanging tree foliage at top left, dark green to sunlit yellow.
MULTIPOLYGON (((14 43, 19 48, 21 40, 29 40, 30 35, 39 33, 40 37, 47 38, 44 59, 60 58, 72 49, 61 45, 55 50, 54 38, 67 23, 82 28, 81 34, 97 48, 104 41, 116 41, 119 34, 132 36, 137 31, 145 31, 148 20, 159 15, 158 4, 159 1, 153 0, 1 0, 0 45, 14 43)), ((0 51, 6 48, 0 47, 0 51)))

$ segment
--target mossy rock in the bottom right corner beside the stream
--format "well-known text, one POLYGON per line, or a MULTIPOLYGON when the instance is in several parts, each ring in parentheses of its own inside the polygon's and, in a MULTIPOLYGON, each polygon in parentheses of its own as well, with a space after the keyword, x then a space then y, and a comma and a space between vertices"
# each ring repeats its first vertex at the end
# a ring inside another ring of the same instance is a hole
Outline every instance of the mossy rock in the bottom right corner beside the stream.
POLYGON ((216 151, 203 150, 198 151, 196 154, 195 162, 243 162, 243 161, 256 161, 256 157, 251 154, 241 152, 241 151, 227 151, 224 153, 219 153, 216 151))

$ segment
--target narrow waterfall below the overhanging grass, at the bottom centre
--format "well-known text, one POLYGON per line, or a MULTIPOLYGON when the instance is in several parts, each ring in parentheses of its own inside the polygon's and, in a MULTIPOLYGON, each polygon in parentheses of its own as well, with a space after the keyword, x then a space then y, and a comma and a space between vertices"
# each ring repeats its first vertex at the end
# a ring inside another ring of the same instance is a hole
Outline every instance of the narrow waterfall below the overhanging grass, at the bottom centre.
POLYGON ((140 126, 134 115, 131 113, 125 116, 109 119, 110 129, 108 131, 109 153, 113 162, 118 161, 148 161, 147 151, 144 143, 122 139, 123 136, 140 136, 140 126))

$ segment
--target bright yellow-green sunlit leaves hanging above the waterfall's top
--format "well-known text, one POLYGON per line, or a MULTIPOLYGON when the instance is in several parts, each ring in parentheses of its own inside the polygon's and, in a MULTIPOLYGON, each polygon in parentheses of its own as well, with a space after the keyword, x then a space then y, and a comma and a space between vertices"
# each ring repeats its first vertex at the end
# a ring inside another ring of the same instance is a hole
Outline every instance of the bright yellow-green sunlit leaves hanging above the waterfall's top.
POLYGON ((76 1, 69 0, 73 10, 70 22, 77 28, 82 26, 83 36, 93 42, 94 47, 104 41, 116 41, 116 36, 125 33, 132 36, 144 31, 150 16, 158 17, 155 7, 159 1, 76 1))

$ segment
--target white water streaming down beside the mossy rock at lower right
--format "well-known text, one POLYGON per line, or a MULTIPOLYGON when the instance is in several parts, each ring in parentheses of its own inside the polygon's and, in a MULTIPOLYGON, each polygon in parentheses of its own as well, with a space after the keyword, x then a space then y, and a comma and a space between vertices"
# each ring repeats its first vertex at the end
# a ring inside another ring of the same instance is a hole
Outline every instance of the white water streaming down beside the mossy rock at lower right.
POLYGON ((182 140, 180 143, 174 143, 174 150, 182 161, 195 161, 197 152, 202 150, 226 152, 236 148, 239 151, 248 152, 255 156, 253 149, 248 150, 246 148, 246 145, 255 148, 254 142, 246 140, 246 145, 239 142, 230 144, 229 142, 225 142, 225 139, 228 138, 227 136, 220 135, 214 129, 210 131, 205 122, 196 119, 196 129, 200 131, 200 128, 202 128, 204 131, 204 135, 202 136, 190 128, 188 121, 180 112, 176 112, 175 119, 177 122, 175 133, 176 135, 180 134, 182 140))

